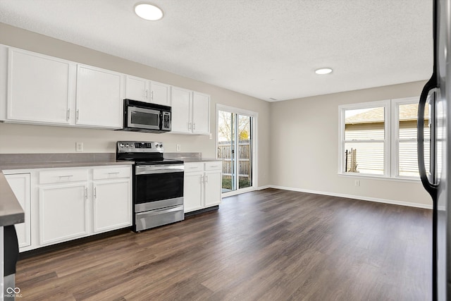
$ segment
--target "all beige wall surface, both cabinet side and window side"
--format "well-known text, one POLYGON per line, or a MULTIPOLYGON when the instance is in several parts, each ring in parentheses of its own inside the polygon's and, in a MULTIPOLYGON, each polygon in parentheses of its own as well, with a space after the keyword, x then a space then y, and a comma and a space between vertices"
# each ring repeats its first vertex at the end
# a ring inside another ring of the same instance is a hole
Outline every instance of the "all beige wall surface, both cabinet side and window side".
MULTIPOLYGON (((328 94, 285 102, 261 99, 185 78, 140 63, 80 47, 35 32, 0 23, 0 44, 115 70, 169 85, 211 95, 211 133, 216 133, 216 104, 235 106, 259 113, 258 186, 386 199, 430 206, 430 197, 421 183, 385 179, 338 176, 338 106, 376 100, 416 97, 424 82, 328 94)), ((0 123, 0 153, 75 152, 75 142, 84 143, 84 152, 115 152, 118 140, 154 140, 166 152, 202 152, 213 158, 216 142, 208 136, 131 133, 113 130, 64 128, 45 125, 0 123)))

